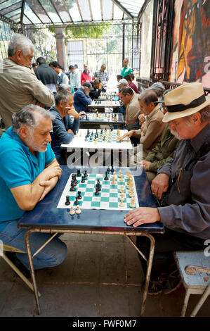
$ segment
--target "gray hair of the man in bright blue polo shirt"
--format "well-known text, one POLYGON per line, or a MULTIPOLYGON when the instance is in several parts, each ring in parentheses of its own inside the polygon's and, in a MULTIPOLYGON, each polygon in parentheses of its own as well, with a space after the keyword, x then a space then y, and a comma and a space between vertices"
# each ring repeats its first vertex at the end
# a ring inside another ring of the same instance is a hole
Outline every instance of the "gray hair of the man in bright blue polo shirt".
POLYGON ((39 117, 36 114, 43 116, 44 118, 50 118, 53 120, 55 116, 48 110, 41 108, 34 104, 24 106, 20 111, 13 114, 12 125, 13 131, 19 135, 20 127, 26 126, 28 128, 35 128, 39 125, 39 117))

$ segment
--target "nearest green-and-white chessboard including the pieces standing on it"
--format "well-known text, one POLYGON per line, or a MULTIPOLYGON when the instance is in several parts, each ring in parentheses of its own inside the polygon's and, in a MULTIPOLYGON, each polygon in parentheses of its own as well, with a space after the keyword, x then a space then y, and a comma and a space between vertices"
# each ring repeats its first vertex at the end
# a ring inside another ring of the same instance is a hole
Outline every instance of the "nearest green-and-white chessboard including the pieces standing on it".
POLYGON ((131 210, 137 208, 138 195, 133 176, 108 168, 105 175, 81 175, 80 170, 67 180, 57 208, 131 210), (79 174, 79 175, 78 175, 79 174))

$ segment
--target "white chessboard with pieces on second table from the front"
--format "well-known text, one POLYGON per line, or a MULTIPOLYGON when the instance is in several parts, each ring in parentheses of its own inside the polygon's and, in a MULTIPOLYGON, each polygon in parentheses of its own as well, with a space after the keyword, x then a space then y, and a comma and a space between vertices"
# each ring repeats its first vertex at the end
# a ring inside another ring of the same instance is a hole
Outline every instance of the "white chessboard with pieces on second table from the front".
POLYGON ((119 141, 127 130, 112 129, 79 129, 70 144, 62 144, 61 148, 73 149, 132 149, 131 139, 119 141))

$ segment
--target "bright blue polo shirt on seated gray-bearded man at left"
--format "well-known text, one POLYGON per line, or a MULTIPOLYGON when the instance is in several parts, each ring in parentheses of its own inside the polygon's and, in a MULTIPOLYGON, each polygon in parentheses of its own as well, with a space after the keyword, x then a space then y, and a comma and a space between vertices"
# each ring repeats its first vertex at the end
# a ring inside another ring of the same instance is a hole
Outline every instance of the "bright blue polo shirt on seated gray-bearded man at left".
POLYGON ((53 162, 55 154, 48 144, 37 156, 29 152, 22 140, 9 127, 0 139, 0 232, 8 221, 20 218, 25 211, 19 208, 11 188, 31 184, 53 162))

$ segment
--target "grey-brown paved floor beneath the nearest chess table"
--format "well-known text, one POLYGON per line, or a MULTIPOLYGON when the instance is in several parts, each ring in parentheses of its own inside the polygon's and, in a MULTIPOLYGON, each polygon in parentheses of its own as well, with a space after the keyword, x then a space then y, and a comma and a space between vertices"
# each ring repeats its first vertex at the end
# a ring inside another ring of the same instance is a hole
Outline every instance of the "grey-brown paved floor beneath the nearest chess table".
MULTIPOLYGON (((56 268, 37 270, 43 317, 137 317, 143 282, 136 250, 119 235, 61 237, 68 246, 65 261, 56 268)), ((181 314, 185 289, 147 296, 145 316, 176 317, 181 314)), ((197 303, 192 295, 186 316, 197 303)), ((198 317, 209 317, 210 296, 198 317)), ((34 295, 0 258, 0 317, 37 316, 34 295)))

